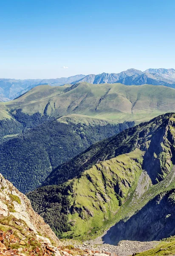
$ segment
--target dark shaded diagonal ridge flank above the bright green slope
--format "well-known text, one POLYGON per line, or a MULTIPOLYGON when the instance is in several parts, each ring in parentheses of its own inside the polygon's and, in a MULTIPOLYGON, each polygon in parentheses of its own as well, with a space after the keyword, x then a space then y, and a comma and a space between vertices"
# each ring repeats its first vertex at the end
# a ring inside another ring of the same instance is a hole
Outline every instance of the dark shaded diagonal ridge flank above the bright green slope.
MULTIPOLYGON (((121 132, 113 138, 96 143, 92 147, 88 148, 87 151, 73 158, 69 163, 58 166, 58 168, 55 169, 45 181, 45 185, 58 185, 60 182, 66 181, 62 179, 62 175, 64 175, 65 172, 69 173, 69 179, 71 179, 79 175, 81 172, 89 169, 94 164, 99 163, 99 161, 109 160, 119 154, 125 154, 133 151, 137 145, 142 145, 143 148, 147 148, 149 147, 150 140, 153 137, 153 142, 155 140, 157 141, 156 143, 160 143, 158 140, 160 140, 160 138, 163 139, 163 129, 164 126, 167 125, 169 116, 171 115, 173 114, 167 113, 164 116, 158 116, 150 122, 142 123, 121 132)), ((152 160, 154 160, 155 156, 152 155, 152 157, 152 160)), ((156 158, 159 160, 157 155, 156 158)))

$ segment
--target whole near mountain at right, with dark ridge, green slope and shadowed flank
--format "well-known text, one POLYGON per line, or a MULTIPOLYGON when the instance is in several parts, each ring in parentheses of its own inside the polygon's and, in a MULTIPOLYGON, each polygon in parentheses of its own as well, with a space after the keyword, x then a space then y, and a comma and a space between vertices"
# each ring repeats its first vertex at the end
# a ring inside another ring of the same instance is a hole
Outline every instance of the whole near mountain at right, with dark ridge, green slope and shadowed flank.
POLYGON ((105 242, 159 240, 175 233, 174 156, 175 114, 168 113, 91 146, 52 172, 45 181, 50 186, 28 196, 59 236, 67 230, 64 236, 95 238, 116 224, 105 242), (66 203, 55 189, 66 191, 60 192, 66 203), (64 230, 53 221, 60 214, 64 230))

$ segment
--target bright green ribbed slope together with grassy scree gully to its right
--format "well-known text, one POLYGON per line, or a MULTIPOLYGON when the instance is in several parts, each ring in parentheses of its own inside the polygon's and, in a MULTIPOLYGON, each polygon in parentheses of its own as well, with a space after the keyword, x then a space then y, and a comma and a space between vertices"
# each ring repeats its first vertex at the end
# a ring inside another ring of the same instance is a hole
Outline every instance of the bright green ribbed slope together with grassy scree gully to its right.
MULTIPOLYGON (((174 121, 174 117, 169 118, 169 132, 173 140, 175 140, 174 121)), ((96 237, 112 224, 121 219, 130 218, 156 195, 175 188, 175 171, 174 168, 172 169, 171 160, 169 165, 169 148, 166 147, 168 143, 167 138, 164 138, 164 143, 161 143, 161 145, 164 144, 163 151, 159 155, 162 159, 162 154, 164 154, 165 162, 160 162, 160 164, 168 165, 168 175, 164 174, 163 180, 155 185, 150 182, 145 191, 146 183, 142 179, 143 186, 140 197, 135 189, 142 173, 145 152, 138 148, 129 154, 122 154, 101 162, 76 178, 73 183, 75 197, 72 204, 74 208, 82 209, 82 212, 69 215, 70 221, 75 224, 71 230, 73 235, 81 235, 83 239, 87 238, 87 234, 96 237), (118 191, 115 189, 117 183, 118 191), (118 194, 117 197, 116 194, 118 194), (119 207, 119 202, 122 204, 121 207, 119 207), (90 211, 90 214, 87 214, 85 208, 90 211)))

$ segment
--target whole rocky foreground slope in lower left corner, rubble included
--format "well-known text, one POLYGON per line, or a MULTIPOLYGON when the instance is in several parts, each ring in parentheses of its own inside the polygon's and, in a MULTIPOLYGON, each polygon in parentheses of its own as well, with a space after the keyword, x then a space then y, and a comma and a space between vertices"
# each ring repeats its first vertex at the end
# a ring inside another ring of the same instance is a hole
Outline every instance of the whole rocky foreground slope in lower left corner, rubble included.
POLYGON ((0 174, 1 255, 50 255, 61 244, 29 199, 0 174))

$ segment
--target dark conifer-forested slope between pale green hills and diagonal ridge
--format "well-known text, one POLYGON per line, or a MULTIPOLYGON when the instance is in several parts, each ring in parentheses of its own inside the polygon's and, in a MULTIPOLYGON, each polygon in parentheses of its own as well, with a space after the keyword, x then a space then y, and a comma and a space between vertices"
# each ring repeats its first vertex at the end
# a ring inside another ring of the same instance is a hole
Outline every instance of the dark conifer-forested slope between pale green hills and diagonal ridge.
POLYGON ((3 139, 0 144, 1 173, 21 192, 29 192, 41 186, 58 165, 132 125, 133 122, 115 125, 45 122, 3 139))

